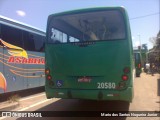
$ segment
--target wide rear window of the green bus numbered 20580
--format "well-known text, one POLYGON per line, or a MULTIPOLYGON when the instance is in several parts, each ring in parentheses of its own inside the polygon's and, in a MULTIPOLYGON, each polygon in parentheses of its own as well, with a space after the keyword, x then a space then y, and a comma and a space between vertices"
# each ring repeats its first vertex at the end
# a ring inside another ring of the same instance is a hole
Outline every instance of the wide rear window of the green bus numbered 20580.
POLYGON ((50 23, 48 43, 120 40, 126 37, 124 17, 118 10, 55 15, 50 23))

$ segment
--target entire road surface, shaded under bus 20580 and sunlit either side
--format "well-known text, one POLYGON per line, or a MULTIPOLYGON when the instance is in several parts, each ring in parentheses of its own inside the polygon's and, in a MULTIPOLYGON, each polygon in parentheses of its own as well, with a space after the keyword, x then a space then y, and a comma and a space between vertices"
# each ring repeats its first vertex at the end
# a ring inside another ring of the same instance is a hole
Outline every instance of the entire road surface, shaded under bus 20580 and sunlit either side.
MULTIPOLYGON (((19 106, 13 110, 18 111, 160 111, 160 96, 157 96, 157 79, 160 75, 154 76, 142 73, 141 77, 134 81, 135 96, 133 102, 128 106, 125 102, 117 101, 84 101, 71 99, 46 99, 45 93, 40 93, 30 97, 20 99, 19 106)), ((89 114, 94 114, 90 113, 89 114)), ((1 118, 0 118, 1 119, 1 118)), ((18 119, 24 120, 26 118, 3 118, 6 120, 18 119)), ((32 120, 33 118, 29 118, 32 120)), ((44 118, 43 118, 44 119, 44 118)), ((160 120, 158 117, 111 117, 111 118, 66 118, 54 117, 45 118, 54 120, 160 120)))

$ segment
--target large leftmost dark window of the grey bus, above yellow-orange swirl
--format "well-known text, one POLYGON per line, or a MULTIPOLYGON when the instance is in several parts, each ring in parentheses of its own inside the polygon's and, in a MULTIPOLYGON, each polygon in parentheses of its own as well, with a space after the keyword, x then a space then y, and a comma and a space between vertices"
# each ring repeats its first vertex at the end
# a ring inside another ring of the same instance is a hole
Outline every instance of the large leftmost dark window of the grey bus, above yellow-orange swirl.
POLYGON ((22 30, 1 25, 1 39, 9 44, 23 48, 22 30))

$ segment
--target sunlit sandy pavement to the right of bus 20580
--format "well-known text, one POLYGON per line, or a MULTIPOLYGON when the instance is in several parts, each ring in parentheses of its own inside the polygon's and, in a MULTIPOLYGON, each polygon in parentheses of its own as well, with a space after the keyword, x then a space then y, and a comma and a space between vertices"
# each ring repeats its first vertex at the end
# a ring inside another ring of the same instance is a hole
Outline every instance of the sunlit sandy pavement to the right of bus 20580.
POLYGON ((137 77, 134 81, 135 96, 133 103, 130 104, 130 111, 159 111, 160 96, 157 95, 157 79, 159 74, 151 76, 142 73, 141 77, 137 77))

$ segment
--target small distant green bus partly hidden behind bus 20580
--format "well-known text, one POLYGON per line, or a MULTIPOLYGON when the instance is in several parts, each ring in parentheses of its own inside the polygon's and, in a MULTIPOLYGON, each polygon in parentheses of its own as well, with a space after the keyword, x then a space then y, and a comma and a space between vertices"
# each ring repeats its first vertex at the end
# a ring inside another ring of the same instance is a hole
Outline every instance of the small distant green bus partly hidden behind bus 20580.
POLYGON ((141 52, 134 51, 136 77, 142 73, 142 56, 141 52))

